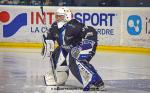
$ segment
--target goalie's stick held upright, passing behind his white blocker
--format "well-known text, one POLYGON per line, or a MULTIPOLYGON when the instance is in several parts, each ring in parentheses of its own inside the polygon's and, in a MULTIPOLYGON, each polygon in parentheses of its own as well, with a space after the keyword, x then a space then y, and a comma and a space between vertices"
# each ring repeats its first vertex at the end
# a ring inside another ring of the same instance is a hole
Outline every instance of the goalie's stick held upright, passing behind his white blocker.
MULTIPOLYGON (((44 15, 44 11, 43 11, 43 0, 41 0, 41 12, 42 12, 42 15, 43 15, 43 18, 44 18, 44 25, 46 25, 46 17, 44 15)), ((45 36, 43 35, 43 37, 45 38, 45 36)), ((45 48, 46 49, 46 48, 45 48)), ((47 50, 46 50, 47 51, 47 50)), ((49 52, 49 51, 47 51, 49 52)), ((43 59, 45 58, 45 54, 44 54, 44 57, 43 59)), ((52 52, 50 52, 50 63, 51 63, 51 67, 52 67, 52 72, 53 72, 53 76, 54 76, 54 80, 56 82, 56 86, 57 86, 57 90, 58 90, 58 85, 57 85, 57 76, 56 76, 56 72, 55 72, 55 67, 54 67, 54 62, 53 62, 53 59, 52 59, 52 52)), ((46 80, 45 80, 46 82, 46 80)))

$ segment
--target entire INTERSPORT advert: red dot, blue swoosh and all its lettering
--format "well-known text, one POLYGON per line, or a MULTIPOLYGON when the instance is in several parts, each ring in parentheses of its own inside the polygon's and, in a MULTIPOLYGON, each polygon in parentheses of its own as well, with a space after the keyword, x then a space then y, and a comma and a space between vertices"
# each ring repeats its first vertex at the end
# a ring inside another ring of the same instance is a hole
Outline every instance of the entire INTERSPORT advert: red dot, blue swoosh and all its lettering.
MULTIPOLYGON (((115 16, 115 13, 74 13, 75 19, 86 25, 94 26, 100 35, 114 35, 113 20, 115 16), (108 28, 106 29, 106 27, 108 28)), ((45 33, 54 21, 55 14, 51 11, 44 12, 43 15, 40 11, 18 12, 15 17, 13 12, 0 11, 0 22, 3 24, 2 30, 5 38, 15 35, 23 26, 26 26, 31 33, 45 33)))

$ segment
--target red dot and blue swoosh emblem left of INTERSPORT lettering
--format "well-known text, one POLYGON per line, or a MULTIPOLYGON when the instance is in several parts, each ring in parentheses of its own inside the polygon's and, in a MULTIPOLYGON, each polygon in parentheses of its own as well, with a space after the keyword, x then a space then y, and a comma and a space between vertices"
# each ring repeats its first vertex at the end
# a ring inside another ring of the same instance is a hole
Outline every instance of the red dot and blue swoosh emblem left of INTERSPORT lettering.
POLYGON ((7 11, 0 12, 0 21, 6 23, 3 25, 3 37, 10 37, 19 31, 22 26, 27 25, 27 13, 18 14, 12 20, 10 20, 10 16, 10 13, 7 11), (8 23, 8 21, 10 22, 8 23))

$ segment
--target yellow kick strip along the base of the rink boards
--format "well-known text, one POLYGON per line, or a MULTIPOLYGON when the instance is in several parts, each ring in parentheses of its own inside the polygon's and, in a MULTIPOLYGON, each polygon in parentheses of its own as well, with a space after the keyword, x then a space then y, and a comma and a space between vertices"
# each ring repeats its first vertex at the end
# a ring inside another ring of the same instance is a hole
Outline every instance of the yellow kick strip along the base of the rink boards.
MULTIPOLYGON (((10 42, 1 42, 0 48, 8 48, 6 51, 12 51, 9 50, 9 48, 14 48, 13 50, 18 48, 25 48, 25 49, 37 49, 38 52, 41 52, 42 49, 42 43, 10 43, 10 42)), ((2 51, 1 49, 0 51, 2 51)), ((139 47, 125 47, 125 46, 97 46, 97 51, 112 51, 112 52, 126 52, 126 53, 140 53, 140 54, 150 54, 150 48, 139 48, 139 47)))

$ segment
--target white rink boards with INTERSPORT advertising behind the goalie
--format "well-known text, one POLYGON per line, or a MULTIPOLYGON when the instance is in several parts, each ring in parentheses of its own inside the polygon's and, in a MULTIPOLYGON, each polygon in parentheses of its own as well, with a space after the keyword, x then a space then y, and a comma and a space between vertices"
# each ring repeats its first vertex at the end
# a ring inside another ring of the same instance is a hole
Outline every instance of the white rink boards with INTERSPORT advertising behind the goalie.
MULTIPOLYGON (((0 5, 0 15, 5 16, 5 20, 0 20, 0 46, 41 47, 42 34, 55 21, 56 9, 58 7, 44 6, 46 18, 44 25, 40 6, 0 5)), ((97 30, 98 45, 150 48, 150 8, 70 7, 70 9, 74 18, 97 30)))

